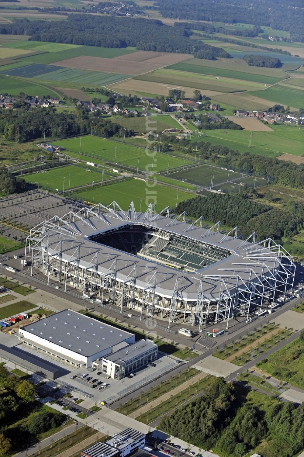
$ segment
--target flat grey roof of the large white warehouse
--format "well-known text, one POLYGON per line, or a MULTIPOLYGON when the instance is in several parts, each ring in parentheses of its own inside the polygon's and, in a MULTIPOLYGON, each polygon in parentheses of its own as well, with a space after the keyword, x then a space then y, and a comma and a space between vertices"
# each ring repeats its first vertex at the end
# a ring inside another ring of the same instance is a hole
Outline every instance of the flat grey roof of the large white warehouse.
POLYGON ((132 337, 133 334, 116 329, 96 319, 70 309, 48 316, 22 327, 32 335, 62 346, 85 357, 93 356, 132 337), (80 351, 81 350, 81 351, 80 351))

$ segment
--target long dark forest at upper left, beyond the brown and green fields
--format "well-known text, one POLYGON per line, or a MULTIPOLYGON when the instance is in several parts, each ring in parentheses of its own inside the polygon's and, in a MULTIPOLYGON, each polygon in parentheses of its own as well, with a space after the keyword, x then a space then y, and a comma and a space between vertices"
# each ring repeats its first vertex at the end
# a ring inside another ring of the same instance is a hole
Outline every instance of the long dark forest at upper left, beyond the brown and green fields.
POLYGON ((0 34, 31 35, 33 41, 69 43, 106 48, 134 46, 144 51, 193 54, 201 58, 230 57, 222 48, 193 41, 178 27, 169 27, 161 21, 91 14, 69 14, 66 21, 15 20, 0 25, 0 34))

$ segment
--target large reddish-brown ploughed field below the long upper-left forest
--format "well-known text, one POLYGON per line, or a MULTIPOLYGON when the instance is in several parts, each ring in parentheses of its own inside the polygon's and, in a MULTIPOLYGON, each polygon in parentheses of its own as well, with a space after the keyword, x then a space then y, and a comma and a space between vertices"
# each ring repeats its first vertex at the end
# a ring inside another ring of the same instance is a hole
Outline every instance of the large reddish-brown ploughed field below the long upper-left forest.
POLYGON ((116 58, 80 56, 55 62, 53 65, 77 68, 82 70, 94 70, 118 74, 139 74, 161 68, 161 65, 147 64, 146 62, 131 62, 116 58))

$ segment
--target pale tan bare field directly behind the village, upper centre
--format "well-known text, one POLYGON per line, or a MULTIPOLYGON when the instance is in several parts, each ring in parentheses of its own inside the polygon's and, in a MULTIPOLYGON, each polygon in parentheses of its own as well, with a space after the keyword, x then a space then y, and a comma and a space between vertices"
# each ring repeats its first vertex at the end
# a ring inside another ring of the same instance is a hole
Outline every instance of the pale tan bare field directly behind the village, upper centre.
MULTIPOLYGON (((113 59, 112 59, 113 60, 113 59)), ((182 89, 186 91, 186 97, 193 96, 193 87, 184 87, 181 85, 172 85, 172 84, 161 84, 154 83, 150 81, 140 81, 129 79, 127 81, 122 81, 117 84, 112 84, 109 86, 110 89, 116 90, 122 94, 129 94, 131 92, 140 94, 158 94, 158 95, 168 95, 170 89, 182 89)), ((214 90, 204 90, 204 94, 208 97, 213 97, 217 95, 222 95, 222 92, 216 92, 214 90)))

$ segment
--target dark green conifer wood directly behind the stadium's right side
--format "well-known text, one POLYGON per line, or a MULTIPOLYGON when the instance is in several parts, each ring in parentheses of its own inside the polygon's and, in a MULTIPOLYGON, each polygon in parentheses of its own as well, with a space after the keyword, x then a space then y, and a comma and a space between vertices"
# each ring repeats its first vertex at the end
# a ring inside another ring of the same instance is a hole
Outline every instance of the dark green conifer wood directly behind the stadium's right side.
POLYGON ((177 206, 178 213, 186 211, 189 216, 240 227, 244 237, 257 232, 261 239, 271 237, 281 240, 292 238, 304 228, 304 204, 290 201, 286 208, 274 208, 254 202, 250 188, 235 194, 213 194, 196 197, 177 206))

